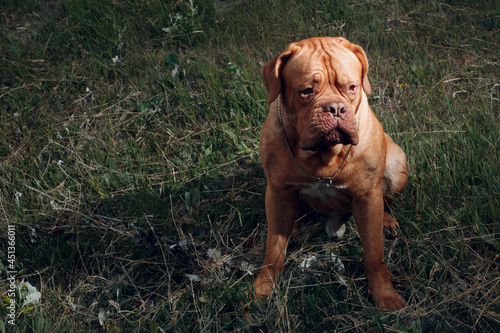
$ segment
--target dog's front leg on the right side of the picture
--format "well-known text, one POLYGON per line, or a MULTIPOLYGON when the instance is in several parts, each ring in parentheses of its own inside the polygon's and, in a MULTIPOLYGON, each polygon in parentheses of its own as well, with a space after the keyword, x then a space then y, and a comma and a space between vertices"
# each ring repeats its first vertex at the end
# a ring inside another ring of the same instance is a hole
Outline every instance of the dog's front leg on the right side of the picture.
POLYGON ((375 304, 387 311, 403 308, 406 301, 394 290, 384 261, 382 188, 368 191, 355 200, 353 214, 363 244, 368 288, 375 304))

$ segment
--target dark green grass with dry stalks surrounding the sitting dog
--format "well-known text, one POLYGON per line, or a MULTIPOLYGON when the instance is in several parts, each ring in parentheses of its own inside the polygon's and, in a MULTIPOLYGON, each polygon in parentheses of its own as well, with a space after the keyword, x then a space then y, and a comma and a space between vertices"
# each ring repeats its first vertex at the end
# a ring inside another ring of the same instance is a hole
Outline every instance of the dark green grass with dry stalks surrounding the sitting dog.
POLYGON ((3 1, 0 238, 15 225, 16 278, 42 293, 24 308, 17 295, 15 331, 498 331, 498 16, 487 0, 3 1), (370 103, 409 159, 401 237, 386 243, 408 307, 368 300, 352 223, 332 242, 304 211, 250 325, 260 71, 326 35, 365 49, 370 103))

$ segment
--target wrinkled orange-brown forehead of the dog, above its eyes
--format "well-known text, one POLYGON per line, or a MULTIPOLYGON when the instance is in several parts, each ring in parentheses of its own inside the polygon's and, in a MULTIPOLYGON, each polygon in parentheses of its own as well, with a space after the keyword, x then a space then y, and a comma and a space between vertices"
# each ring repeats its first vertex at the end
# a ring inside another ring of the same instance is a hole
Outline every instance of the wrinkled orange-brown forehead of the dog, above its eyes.
POLYGON ((328 78, 330 84, 361 81, 361 64, 354 53, 334 41, 297 43, 299 49, 286 63, 287 83, 328 78))

